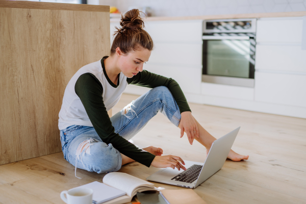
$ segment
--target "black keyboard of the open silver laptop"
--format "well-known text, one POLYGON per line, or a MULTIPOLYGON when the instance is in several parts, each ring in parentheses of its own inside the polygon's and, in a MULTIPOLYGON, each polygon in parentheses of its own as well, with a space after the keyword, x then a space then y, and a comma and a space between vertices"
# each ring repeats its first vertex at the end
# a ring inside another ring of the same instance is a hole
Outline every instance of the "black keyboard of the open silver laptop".
POLYGON ((202 165, 194 164, 188 169, 186 169, 186 171, 183 171, 182 173, 179 173, 174 176, 171 180, 174 179, 174 181, 192 183, 198 178, 202 167, 202 165))

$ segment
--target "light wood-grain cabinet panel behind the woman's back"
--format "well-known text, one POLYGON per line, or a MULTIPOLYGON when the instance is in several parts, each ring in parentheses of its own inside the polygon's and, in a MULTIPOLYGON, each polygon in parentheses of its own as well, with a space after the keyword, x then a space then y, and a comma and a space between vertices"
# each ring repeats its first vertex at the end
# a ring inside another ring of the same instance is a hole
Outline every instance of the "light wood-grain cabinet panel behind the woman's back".
POLYGON ((0 7, 0 15, 0 164, 59 152, 64 90, 108 54, 109 12, 0 7))

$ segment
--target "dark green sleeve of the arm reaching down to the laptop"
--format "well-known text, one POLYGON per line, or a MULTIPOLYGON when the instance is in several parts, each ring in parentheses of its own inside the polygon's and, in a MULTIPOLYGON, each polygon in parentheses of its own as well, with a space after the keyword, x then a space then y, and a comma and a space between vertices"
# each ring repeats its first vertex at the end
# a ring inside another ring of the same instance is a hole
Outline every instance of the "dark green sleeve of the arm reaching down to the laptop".
POLYGON ((131 142, 115 133, 111 119, 104 105, 103 87, 92 73, 82 74, 74 87, 80 97, 86 113, 101 140, 112 145, 123 155, 150 167, 155 155, 136 147, 131 142))

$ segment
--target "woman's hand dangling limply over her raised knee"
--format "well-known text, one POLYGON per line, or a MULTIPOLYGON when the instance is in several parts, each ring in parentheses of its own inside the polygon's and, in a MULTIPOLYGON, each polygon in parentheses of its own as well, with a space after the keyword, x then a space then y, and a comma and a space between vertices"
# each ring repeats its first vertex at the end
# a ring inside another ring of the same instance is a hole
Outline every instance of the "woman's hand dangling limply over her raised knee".
POLYGON ((190 111, 181 113, 181 138, 184 135, 184 131, 187 134, 189 143, 192 144, 195 137, 199 137, 199 130, 196 122, 190 111))

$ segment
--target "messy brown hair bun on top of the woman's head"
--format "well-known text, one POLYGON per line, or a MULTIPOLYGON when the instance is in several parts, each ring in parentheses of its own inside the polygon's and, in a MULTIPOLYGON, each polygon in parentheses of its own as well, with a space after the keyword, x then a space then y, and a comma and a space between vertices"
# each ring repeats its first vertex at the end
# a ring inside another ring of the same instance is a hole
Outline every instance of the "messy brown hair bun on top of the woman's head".
MULTIPOLYGON (((140 17, 140 12, 138 9, 132 9, 121 14, 120 25, 121 29, 118 29, 119 33, 125 33, 127 29, 139 30, 144 28, 143 19, 140 17)), ((142 12, 143 13, 143 12, 142 12)))

